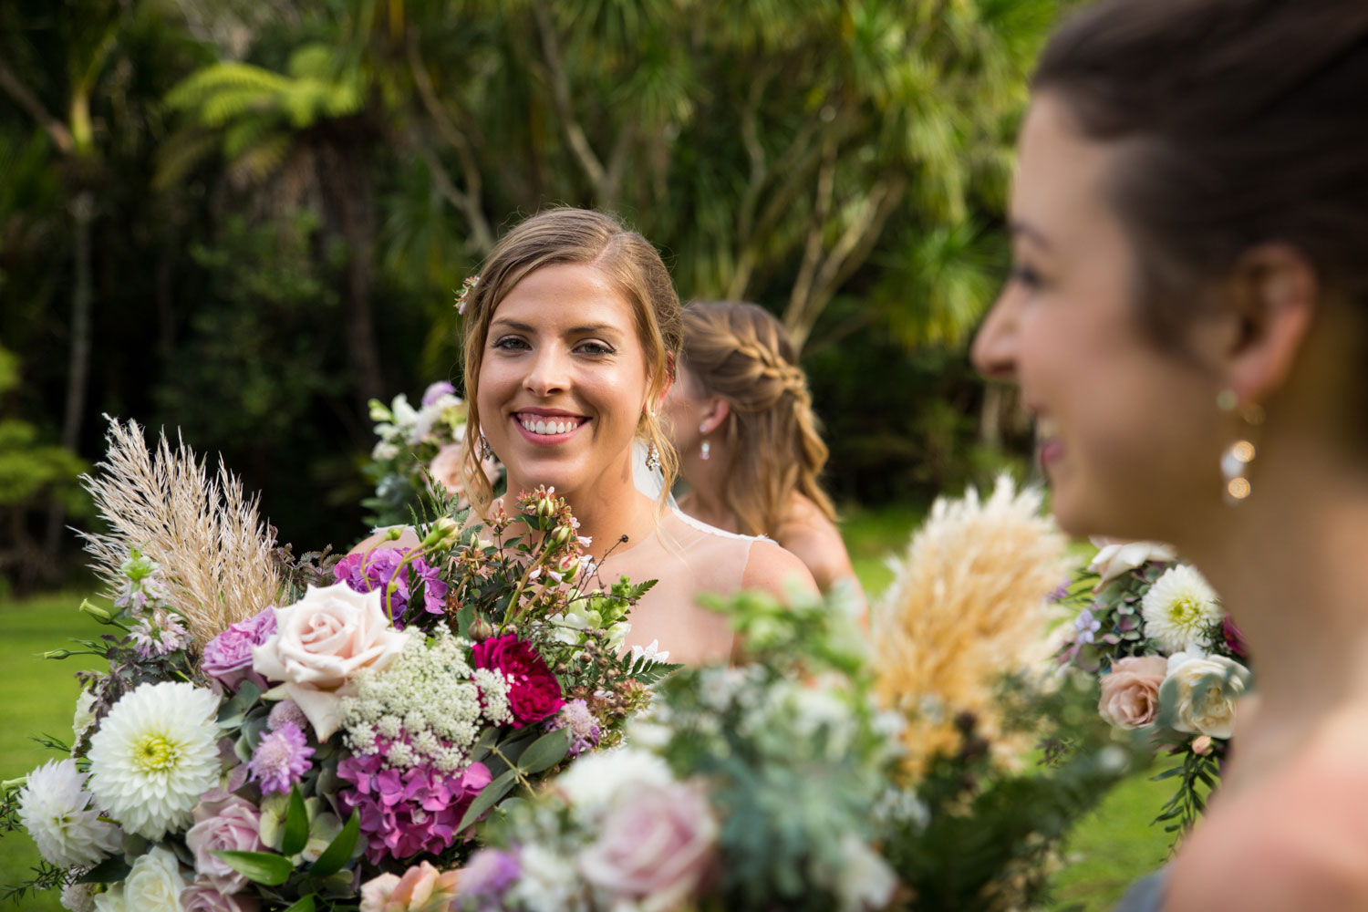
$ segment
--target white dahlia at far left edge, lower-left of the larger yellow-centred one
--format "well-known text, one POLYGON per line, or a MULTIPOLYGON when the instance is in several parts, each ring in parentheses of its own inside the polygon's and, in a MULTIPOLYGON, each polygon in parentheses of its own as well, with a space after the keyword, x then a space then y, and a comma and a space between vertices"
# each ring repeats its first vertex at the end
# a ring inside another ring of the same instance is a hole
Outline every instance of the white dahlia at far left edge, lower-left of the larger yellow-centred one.
POLYGON ((90 808, 86 777, 75 760, 49 760, 29 774, 19 793, 25 829, 42 857, 63 868, 93 867, 123 841, 119 827, 90 808))

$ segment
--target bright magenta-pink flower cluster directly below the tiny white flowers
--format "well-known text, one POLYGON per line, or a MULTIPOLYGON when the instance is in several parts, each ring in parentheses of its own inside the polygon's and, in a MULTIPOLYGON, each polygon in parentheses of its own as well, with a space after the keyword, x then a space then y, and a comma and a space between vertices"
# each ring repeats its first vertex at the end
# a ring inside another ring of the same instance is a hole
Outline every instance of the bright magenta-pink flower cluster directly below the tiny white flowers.
POLYGON ((450 848, 465 809, 490 783, 488 767, 472 763, 462 773, 442 773, 427 763, 386 767, 387 747, 386 738, 376 738, 375 753, 347 756, 338 764, 338 778, 349 783, 338 793, 342 812, 360 812, 365 857, 379 864, 384 856, 408 859, 450 848))

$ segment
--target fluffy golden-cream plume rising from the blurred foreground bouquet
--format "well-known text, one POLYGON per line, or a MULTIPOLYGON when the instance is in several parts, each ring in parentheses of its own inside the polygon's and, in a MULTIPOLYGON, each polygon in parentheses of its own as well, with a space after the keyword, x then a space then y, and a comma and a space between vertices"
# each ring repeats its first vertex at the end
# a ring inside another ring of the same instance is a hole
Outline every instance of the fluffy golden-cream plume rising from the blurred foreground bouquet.
POLYGON ((959 749, 962 712, 999 759, 1029 747, 1004 736, 995 692, 1007 674, 1045 667, 1052 651, 1045 598, 1066 576, 1066 540, 1041 503, 1007 476, 986 499, 974 488, 938 499, 893 562, 871 613, 876 688, 907 721, 912 775, 959 749))

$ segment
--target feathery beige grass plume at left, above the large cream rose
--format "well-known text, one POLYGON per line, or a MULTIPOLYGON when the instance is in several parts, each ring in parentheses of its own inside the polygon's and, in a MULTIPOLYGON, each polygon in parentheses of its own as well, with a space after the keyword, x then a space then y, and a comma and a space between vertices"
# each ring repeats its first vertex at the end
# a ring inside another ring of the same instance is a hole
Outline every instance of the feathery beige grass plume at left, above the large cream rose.
POLYGON ((105 440, 104 462, 81 481, 109 531, 81 536, 111 592, 123 581, 119 565, 142 551, 161 565, 171 607, 200 645, 275 603, 275 543, 239 479, 222 462, 211 477, 179 436, 172 448, 166 432, 153 455, 135 421, 109 418, 105 440))

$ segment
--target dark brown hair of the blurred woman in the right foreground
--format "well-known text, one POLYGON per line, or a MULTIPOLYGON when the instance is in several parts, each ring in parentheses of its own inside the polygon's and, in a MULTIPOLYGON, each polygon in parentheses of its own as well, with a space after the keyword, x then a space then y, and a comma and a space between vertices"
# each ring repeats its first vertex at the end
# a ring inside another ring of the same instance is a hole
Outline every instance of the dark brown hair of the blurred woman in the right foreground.
POLYGON ((1368 0, 1104 0, 1033 89, 1118 152, 1105 191, 1156 339, 1264 242, 1368 302, 1368 0))

